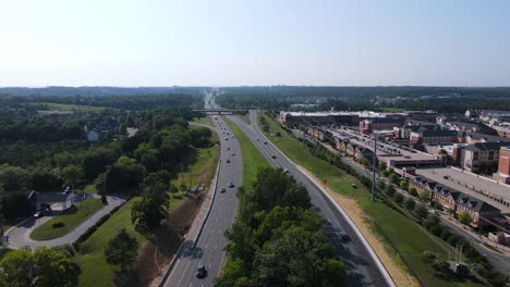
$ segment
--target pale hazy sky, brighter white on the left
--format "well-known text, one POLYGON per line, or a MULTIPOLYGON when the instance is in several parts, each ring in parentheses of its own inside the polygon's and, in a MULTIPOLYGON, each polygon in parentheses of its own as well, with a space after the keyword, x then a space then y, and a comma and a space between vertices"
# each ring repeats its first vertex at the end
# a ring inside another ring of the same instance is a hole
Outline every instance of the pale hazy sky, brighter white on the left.
POLYGON ((510 1, 3 0, 0 86, 510 86, 510 1))

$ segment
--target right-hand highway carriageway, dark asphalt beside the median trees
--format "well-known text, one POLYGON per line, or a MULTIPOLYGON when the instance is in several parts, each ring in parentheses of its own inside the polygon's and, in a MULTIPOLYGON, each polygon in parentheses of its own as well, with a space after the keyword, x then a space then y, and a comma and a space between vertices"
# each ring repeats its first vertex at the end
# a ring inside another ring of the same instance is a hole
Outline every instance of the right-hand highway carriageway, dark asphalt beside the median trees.
POLYGON ((331 238, 337 255, 348 266, 350 285, 388 286, 376 263, 373 261, 368 251, 347 223, 342 214, 328 199, 325 198, 321 191, 301 171, 298 170, 293 162, 287 160, 287 158, 283 157, 283 154, 281 154, 271 142, 267 142, 267 145, 264 144, 264 136, 256 126, 256 113, 254 111, 251 111, 250 117, 251 125, 235 116, 230 116, 229 120, 234 122, 243 133, 246 134, 272 166, 287 169, 290 175, 306 187, 312 198, 315 211, 328 221, 326 232, 331 238), (272 155, 275 155, 276 159, 274 159, 272 155), (339 230, 344 230, 352 240, 348 242, 342 241, 338 234, 339 230))

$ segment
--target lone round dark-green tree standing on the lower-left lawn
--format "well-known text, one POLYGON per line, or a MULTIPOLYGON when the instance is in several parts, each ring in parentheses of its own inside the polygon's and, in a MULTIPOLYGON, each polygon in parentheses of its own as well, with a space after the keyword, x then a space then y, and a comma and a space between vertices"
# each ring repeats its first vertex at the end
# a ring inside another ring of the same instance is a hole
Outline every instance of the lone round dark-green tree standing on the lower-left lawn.
POLYGON ((108 242, 105 257, 108 264, 120 265, 121 271, 126 271, 136 262, 138 242, 125 228, 122 228, 108 242))

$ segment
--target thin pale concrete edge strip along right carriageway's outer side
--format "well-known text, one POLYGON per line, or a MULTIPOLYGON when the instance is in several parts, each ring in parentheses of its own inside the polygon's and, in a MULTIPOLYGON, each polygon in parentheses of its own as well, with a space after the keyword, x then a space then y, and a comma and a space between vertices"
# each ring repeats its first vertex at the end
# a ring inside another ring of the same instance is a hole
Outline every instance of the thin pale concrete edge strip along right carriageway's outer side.
MULTIPOLYGON (((283 153, 277 146, 275 146, 275 144, 272 144, 272 141, 270 141, 266 135, 264 133, 260 132, 260 129, 258 128, 258 125, 257 125, 257 129, 258 132, 262 134, 262 136, 266 139, 267 142, 270 142, 270 145, 276 149, 278 150, 289 162, 291 163, 294 163, 291 159, 289 159, 289 157, 287 157, 286 153, 283 153)), ((295 164, 294 164, 295 165, 295 164)), ((296 166, 298 167, 298 166, 296 166)), ((298 169, 300 170, 300 169, 298 169)), ((306 177, 308 178, 308 180, 315 185, 321 192, 324 196, 326 196, 326 198, 329 200, 330 203, 333 204, 333 207, 345 217, 347 222, 349 223, 349 225, 351 226, 351 228, 356 233, 357 237, 360 237, 362 239, 362 244, 365 246, 365 248, 367 249, 368 253, 371 254, 372 259, 376 262, 377 264, 377 267, 379 269, 380 273, 382 274, 382 277, 385 277, 386 279, 386 283, 391 286, 391 287, 394 287, 397 286, 393 282, 393 279, 391 278, 391 275, 388 273, 388 271, 386 270, 385 265, 382 264, 382 262, 380 261, 379 257, 375 253, 374 249, 372 249, 372 246, 368 244, 368 241, 366 240, 366 238, 363 236, 363 234, 360 232, 360 229, 357 228, 357 226, 354 224, 354 222, 351 220, 351 217, 349 216, 349 214, 347 214, 347 212, 340 207, 338 205, 338 203, 331 198, 331 196, 329 196, 329 194, 324 190, 320 186, 318 186, 315 180, 313 180, 312 178, 309 178, 309 176, 306 174, 306 173, 303 173, 301 170, 300 172, 306 177)))

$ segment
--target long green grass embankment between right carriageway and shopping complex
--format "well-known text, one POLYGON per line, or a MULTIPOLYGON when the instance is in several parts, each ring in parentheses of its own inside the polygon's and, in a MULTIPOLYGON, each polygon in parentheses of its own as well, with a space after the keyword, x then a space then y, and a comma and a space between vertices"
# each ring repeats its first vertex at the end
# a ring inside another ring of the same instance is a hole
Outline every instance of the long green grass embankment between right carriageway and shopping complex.
MULTIPOLYGON (((276 121, 267 116, 266 118, 270 126, 270 133, 280 132, 281 137, 266 136, 296 164, 304 166, 318 178, 327 178, 328 187, 331 190, 353 196, 366 214, 371 229, 385 241, 388 249, 394 249, 400 254, 421 282, 426 283, 427 286, 479 286, 471 282, 461 283, 454 278, 450 280, 435 276, 434 271, 422 262, 421 257, 424 251, 429 250, 447 259, 446 244, 384 203, 372 202, 368 190, 356 178, 343 176, 343 172, 338 167, 315 158, 307 149, 303 148, 299 140, 289 136, 276 121), (352 188, 351 184, 353 183, 359 186, 357 189, 352 188)), ((400 264, 402 263, 400 262, 400 264)))

